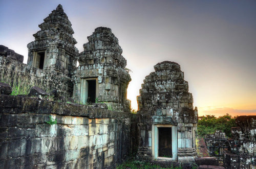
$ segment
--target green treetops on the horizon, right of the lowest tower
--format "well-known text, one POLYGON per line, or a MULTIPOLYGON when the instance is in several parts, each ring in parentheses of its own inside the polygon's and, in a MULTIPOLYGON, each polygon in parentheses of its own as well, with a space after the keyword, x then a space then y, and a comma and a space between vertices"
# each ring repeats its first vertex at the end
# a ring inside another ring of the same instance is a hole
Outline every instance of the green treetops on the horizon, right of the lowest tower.
POLYGON ((235 123, 236 117, 229 114, 215 117, 214 115, 206 115, 198 117, 197 134, 204 137, 206 134, 213 134, 216 130, 220 130, 231 137, 231 127, 237 127, 235 123))

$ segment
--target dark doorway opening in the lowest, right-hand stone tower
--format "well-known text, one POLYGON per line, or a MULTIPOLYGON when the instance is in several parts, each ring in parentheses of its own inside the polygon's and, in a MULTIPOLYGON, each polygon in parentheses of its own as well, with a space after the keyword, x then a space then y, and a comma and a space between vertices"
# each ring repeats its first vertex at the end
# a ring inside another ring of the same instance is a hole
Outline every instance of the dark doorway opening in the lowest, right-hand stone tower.
POLYGON ((168 158, 173 157, 171 127, 158 128, 158 156, 168 158))

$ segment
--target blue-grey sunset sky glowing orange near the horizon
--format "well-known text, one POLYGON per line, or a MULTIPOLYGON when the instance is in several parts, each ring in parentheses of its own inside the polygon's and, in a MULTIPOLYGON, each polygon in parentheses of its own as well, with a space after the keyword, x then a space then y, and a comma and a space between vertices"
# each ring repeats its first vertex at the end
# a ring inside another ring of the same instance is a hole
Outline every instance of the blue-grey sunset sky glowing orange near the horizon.
POLYGON ((256 1, 0 0, 0 44, 24 56, 27 44, 61 4, 79 53, 97 27, 119 39, 136 96, 165 60, 180 64, 199 115, 256 115, 256 1))

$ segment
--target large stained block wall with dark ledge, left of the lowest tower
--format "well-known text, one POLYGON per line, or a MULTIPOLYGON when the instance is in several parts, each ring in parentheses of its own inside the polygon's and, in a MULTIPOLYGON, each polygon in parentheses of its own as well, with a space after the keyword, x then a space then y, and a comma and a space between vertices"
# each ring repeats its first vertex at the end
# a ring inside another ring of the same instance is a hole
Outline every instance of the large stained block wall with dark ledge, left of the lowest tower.
POLYGON ((113 168, 131 148, 130 113, 0 95, 0 119, 0 168, 113 168))

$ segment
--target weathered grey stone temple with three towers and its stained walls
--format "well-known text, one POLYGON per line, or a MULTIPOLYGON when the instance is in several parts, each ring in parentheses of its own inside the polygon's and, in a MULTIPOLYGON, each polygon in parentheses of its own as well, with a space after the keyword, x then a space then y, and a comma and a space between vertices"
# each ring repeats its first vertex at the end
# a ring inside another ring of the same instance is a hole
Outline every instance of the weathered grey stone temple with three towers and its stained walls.
POLYGON ((79 54, 71 26, 58 5, 27 45, 28 64, 0 45, 0 80, 26 91, 9 95, 0 83, 0 168, 114 168, 130 152, 169 165, 194 162, 198 112, 180 65, 154 66, 132 114, 118 39, 96 28, 79 54))

